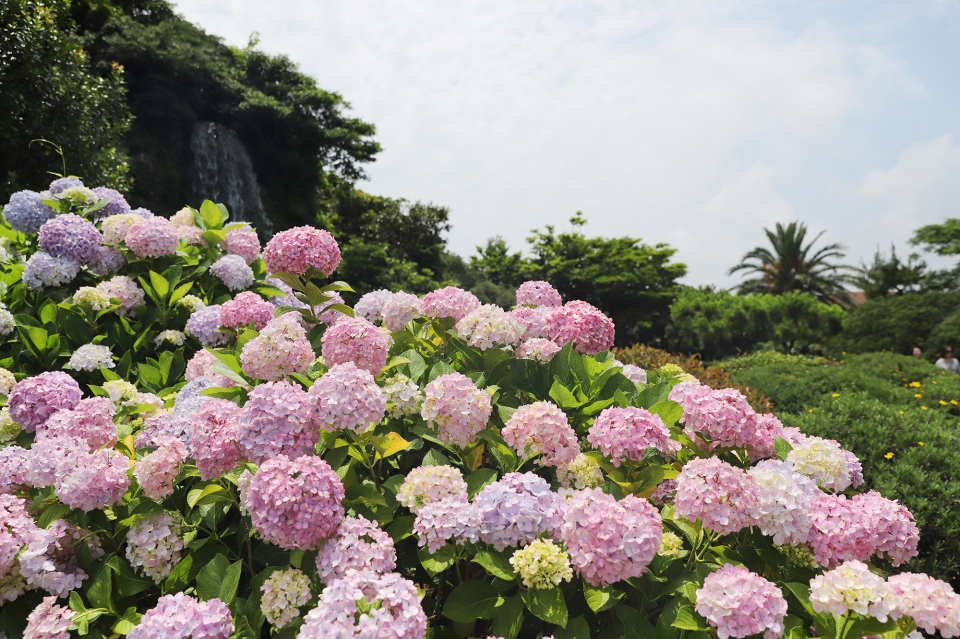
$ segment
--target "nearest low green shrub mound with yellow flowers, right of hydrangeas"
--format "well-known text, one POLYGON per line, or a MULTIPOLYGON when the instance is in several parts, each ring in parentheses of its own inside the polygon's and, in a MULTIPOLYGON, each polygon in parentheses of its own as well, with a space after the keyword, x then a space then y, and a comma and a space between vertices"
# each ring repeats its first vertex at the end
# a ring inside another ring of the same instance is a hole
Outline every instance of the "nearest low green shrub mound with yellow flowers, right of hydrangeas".
POLYGON ((956 586, 960 581, 960 427, 955 416, 854 392, 827 397, 815 408, 780 417, 787 425, 836 439, 853 451, 863 464, 867 485, 899 500, 920 527, 920 556, 907 570, 928 572, 956 586), (886 458, 888 453, 893 453, 891 459, 886 458))

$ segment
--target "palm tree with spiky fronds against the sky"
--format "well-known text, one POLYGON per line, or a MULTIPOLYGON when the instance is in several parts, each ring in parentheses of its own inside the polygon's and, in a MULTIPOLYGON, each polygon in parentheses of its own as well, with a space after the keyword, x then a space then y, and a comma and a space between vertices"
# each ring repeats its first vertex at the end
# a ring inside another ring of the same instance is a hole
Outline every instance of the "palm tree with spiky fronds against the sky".
POLYGON ((813 252, 813 245, 825 231, 818 233, 806 245, 804 240, 807 237, 807 227, 802 222, 791 222, 786 227, 777 222, 776 231, 763 231, 767 234, 773 251, 758 246, 730 269, 731 275, 737 271, 759 275, 736 286, 738 293, 779 295, 790 291, 806 291, 822 302, 850 301, 850 295, 843 287, 844 283, 851 280, 847 273, 850 267, 831 262, 843 258, 844 247, 840 244, 829 244, 813 252))

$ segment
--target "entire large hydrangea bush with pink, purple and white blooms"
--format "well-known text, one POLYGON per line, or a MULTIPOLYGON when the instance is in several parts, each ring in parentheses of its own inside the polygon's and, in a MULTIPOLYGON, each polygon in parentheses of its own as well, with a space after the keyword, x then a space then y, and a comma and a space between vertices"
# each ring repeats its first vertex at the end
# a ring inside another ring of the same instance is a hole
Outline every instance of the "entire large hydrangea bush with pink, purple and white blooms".
POLYGON ((79 180, 5 215, 6 639, 960 635, 840 443, 624 367, 546 282, 354 316, 325 231, 264 259, 79 180))

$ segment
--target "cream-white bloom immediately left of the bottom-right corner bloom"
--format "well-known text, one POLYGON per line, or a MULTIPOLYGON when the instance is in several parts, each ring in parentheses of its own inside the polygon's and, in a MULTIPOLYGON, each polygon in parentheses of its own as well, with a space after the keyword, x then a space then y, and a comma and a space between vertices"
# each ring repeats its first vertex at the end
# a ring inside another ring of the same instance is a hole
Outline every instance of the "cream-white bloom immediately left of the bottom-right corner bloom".
POLYGON ((899 598, 883 577, 859 561, 848 561, 810 580, 810 605, 816 612, 842 615, 848 610, 886 621, 899 616, 899 598))

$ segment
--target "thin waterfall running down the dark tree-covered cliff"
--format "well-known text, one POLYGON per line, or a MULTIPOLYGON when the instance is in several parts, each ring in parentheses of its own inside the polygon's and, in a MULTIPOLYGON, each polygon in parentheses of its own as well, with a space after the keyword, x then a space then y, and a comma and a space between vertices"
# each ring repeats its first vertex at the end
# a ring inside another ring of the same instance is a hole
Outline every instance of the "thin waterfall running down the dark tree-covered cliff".
POLYGON ((249 222, 261 237, 273 235, 273 222, 263 209, 257 175, 237 134, 214 122, 197 122, 190 137, 193 151, 193 195, 222 203, 233 222, 249 222))

